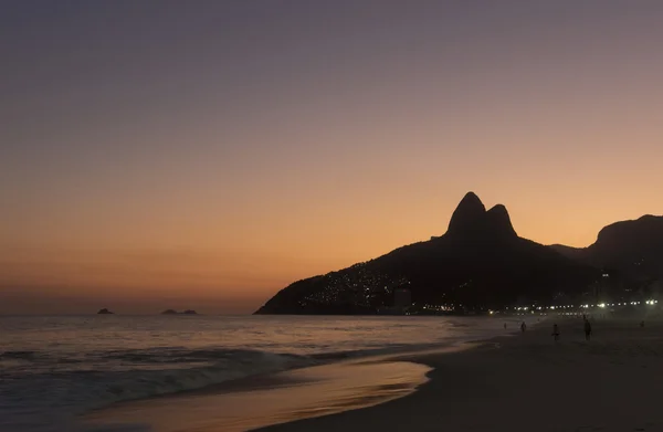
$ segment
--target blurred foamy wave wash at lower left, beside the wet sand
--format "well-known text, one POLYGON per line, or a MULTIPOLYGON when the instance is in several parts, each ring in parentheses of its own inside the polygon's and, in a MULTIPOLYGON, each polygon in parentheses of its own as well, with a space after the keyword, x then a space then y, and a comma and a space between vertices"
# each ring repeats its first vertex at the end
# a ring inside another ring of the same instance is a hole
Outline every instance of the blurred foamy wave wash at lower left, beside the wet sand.
MULTIPOLYGON (((125 355, 128 358, 136 354, 125 355)), ((145 356, 144 352, 137 355, 145 356)), ((4 378, 0 388, 0 430, 61 431, 61 425, 69 423, 74 415, 113 402, 201 389, 253 375, 306 366, 307 361, 312 361, 297 356, 252 350, 208 349, 204 352, 187 351, 186 356, 207 361, 203 366, 179 365, 175 368, 168 366, 178 365, 164 361, 165 369, 148 370, 3 375, 0 377, 4 378), (30 415, 24 407, 39 412, 39 417, 30 415)), ((157 354, 152 352, 152 357, 146 358, 157 361, 156 357, 157 354)), ((180 358, 177 362, 183 360, 180 358)))

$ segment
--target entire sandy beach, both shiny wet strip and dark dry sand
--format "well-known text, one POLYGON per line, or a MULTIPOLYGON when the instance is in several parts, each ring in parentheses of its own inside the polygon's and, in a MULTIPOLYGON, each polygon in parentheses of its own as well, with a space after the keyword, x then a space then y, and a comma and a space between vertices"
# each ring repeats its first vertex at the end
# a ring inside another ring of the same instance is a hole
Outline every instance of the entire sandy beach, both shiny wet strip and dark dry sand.
POLYGON ((634 319, 597 320, 586 341, 581 319, 549 318, 461 351, 304 368, 128 402, 91 419, 151 419, 156 432, 656 431, 663 430, 661 335, 663 322, 641 328, 634 319))

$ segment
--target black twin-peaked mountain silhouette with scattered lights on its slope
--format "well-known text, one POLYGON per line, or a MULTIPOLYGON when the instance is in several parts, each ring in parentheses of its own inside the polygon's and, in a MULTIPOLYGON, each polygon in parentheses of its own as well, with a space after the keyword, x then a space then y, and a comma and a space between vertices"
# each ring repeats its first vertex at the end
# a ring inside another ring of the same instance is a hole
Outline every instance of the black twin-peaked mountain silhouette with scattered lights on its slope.
MULTIPOLYGON (((643 218, 656 221, 644 231, 659 230, 663 235, 663 218, 643 218)), ((650 234, 642 235, 651 238, 650 234)), ((608 243, 620 249, 620 242, 623 243, 618 233, 608 243)), ((636 244, 631 250, 639 247, 636 244)), ((650 249, 653 252, 648 256, 653 256, 650 261, 656 262, 657 268, 663 263, 663 242, 654 241, 650 249)), ((638 255, 638 251, 632 254, 638 255)), ((419 304, 470 308, 576 297, 587 294, 600 281, 604 265, 599 255, 610 253, 596 244, 587 249, 544 246, 519 238, 504 206, 486 211, 478 197, 469 192, 453 212, 444 235, 338 272, 295 282, 256 313, 370 314, 390 306, 397 288, 410 289, 412 301, 419 304)))

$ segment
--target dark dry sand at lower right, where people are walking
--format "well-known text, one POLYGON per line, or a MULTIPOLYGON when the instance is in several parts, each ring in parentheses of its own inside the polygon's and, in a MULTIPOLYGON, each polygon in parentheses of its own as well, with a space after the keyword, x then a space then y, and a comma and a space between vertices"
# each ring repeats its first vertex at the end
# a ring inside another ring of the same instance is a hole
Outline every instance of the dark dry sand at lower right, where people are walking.
POLYGON ((453 355, 400 357, 432 368, 429 381, 379 405, 259 429, 298 431, 663 430, 663 322, 541 322, 453 355), (558 323, 561 340, 550 336, 558 323))

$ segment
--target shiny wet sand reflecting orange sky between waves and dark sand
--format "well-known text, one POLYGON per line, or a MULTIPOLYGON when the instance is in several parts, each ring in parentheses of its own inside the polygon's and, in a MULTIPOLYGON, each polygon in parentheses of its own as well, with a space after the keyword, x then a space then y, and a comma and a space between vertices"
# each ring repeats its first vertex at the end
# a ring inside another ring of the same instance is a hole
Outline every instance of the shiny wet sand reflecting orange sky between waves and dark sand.
MULTIPOLYGON (((502 320, 495 320, 495 324, 501 327, 502 320)), ((116 402, 81 419, 85 424, 94 425, 139 424, 156 432, 244 431, 290 424, 407 397, 429 380, 431 366, 421 361, 422 358, 473 351, 478 346, 499 344, 518 333, 512 327, 498 336, 446 346, 348 358, 245 377, 198 390, 116 402), (262 409, 251 411, 246 405, 262 409), (219 410, 219 407, 223 408, 219 410)))

